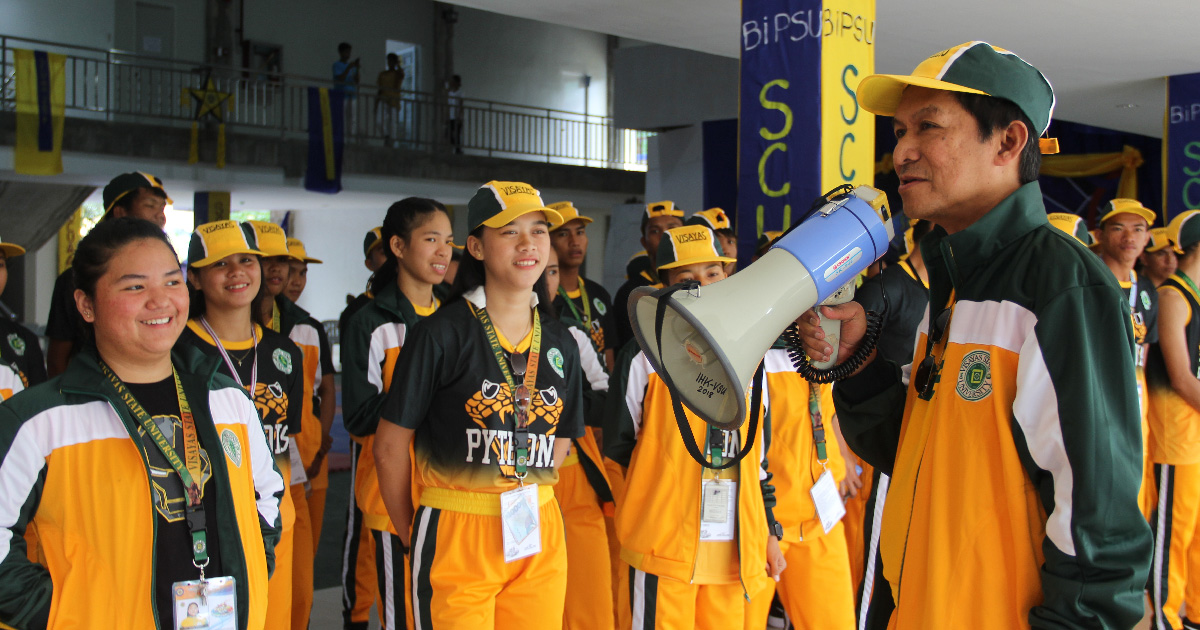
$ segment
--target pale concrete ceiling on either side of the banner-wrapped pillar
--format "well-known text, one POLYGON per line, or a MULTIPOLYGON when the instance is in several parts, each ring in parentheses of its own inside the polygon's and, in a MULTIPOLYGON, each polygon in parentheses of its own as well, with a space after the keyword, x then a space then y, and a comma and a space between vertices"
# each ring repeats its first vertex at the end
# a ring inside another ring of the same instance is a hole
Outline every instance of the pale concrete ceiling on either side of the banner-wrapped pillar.
MULTIPOLYGON (((451 0, 496 13, 738 56, 734 0, 451 0)), ((880 0, 876 72, 907 73, 930 53, 983 40, 1050 79, 1055 115, 1163 134, 1169 74, 1200 72, 1196 0, 880 0)))

